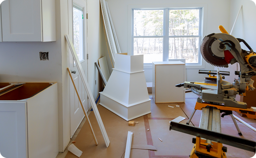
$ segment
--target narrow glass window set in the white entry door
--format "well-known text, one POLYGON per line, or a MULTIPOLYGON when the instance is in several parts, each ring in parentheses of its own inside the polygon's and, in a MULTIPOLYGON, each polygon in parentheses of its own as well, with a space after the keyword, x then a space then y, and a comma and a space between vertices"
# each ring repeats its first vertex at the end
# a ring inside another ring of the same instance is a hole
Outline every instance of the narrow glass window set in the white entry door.
MULTIPOLYGON (((84 60, 83 7, 73 3, 73 39, 79 61, 84 60)), ((75 62, 74 62, 75 63, 75 62)))

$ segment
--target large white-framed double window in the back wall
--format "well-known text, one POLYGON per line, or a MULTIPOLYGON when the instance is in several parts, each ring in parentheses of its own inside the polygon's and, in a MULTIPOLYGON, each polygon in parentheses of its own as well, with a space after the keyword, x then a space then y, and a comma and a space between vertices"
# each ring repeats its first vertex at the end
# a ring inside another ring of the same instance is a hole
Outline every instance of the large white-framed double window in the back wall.
POLYGON ((132 54, 144 63, 186 59, 201 62, 202 8, 133 9, 132 54))

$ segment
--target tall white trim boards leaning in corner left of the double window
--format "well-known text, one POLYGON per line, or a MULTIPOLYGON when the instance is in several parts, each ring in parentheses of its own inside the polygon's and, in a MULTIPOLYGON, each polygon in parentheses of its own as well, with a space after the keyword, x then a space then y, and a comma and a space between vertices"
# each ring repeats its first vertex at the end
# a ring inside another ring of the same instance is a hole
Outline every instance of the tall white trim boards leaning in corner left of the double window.
POLYGON ((107 8, 106 8, 106 1, 105 0, 100 0, 100 3, 101 3, 101 12, 102 12, 104 28, 105 28, 106 36, 107 36, 107 39, 108 39, 110 52, 112 54, 112 60, 114 62, 114 54, 117 53, 117 48, 116 48, 115 43, 114 43, 114 35, 113 35, 112 28, 111 28, 108 11, 107 11, 107 8))

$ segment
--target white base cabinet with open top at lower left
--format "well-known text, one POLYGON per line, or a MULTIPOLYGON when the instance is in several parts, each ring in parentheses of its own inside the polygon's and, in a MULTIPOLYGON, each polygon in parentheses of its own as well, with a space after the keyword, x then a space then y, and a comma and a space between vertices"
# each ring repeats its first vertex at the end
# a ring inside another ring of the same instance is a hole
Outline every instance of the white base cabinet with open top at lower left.
MULTIPOLYGON (((0 82, 1 88, 10 85, 0 82)), ((25 83, 0 92, 0 154, 5 158, 56 158, 57 83, 25 83), (20 86, 20 87, 19 87, 20 86)))

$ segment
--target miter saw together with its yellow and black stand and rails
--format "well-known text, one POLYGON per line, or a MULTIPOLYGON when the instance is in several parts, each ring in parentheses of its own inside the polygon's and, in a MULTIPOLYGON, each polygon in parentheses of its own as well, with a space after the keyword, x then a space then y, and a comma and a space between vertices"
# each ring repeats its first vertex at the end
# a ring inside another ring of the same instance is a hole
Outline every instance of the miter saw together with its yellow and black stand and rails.
POLYGON ((247 109, 246 103, 236 101, 235 99, 236 95, 243 95, 246 90, 255 89, 253 87, 254 81, 251 77, 256 75, 256 72, 253 70, 256 68, 256 53, 253 52, 243 39, 229 35, 222 26, 219 26, 219 29, 222 33, 213 33, 204 37, 200 48, 201 54, 208 63, 217 67, 227 68, 229 63, 234 64, 238 62, 240 71, 235 72, 238 75, 238 79, 235 79, 233 84, 223 80, 225 76, 229 76, 230 72, 217 69, 199 70, 200 74, 208 75, 208 77, 205 77, 204 82, 184 82, 183 84, 176 85, 177 87, 184 86, 185 89, 191 89, 193 93, 199 96, 187 124, 191 121, 196 110, 202 110, 199 128, 192 128, 188 125, 172 122, 170 124, 170 130, 173 129, 197 136, 196 139, 193 139, 193 143, 196 144, 193 147, 190 158, 226 158, 226 148, 223 148, 222 143, 245 150, 256 151, 256 142, 250 142, 252 148, 248 149, 249 142, 245 143, 247 140, 231 137, 228 140, 227 136, 221 134, 220 117, 230 115, 238 134, 242 135, 232 111, 244 113, 247 117, 256 119, 253 108, 247 109), (241 49, 240 42, 243 42, 249 51, 241 49), (220 113, 223 114, 220 116, 220 113), (204 130, 200 130, 200 128, 204 130), (210 131, 213 133, 210 133, 210 131), (208 140, 200 139, 201 136, 208 140), (225 139, 226 142, 222 142, 222 139, 225 139))

